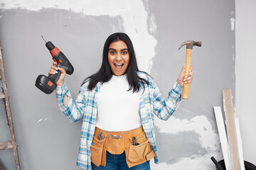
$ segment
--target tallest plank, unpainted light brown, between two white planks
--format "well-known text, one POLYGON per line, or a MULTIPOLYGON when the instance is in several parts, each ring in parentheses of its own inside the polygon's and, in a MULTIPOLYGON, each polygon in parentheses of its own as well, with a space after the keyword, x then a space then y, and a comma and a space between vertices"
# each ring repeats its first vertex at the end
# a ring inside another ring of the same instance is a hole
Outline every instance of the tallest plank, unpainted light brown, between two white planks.
POLYGON ((240 170, 240 162, 238 157, 238 142, 235 134, 235 118, 233 111, 233 102, 230 89, 223 90, 223 106, 225 119, 227 123, 228 147, 230 152, 230 162, 232 170, 240 170))

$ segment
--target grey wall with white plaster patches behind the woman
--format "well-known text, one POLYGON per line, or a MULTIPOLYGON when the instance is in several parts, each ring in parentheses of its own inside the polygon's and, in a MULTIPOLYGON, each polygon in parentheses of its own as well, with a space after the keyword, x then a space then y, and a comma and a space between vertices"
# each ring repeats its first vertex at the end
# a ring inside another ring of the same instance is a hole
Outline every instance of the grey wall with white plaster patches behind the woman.
MULTIPOLYGON (((190 99, 182 101, 170 120, 155 119, 160 164, 151 161, 151 169, 215 169, 210 157, 223 159, 213 106, 222 106, 222 89, 231 89, 235 96, 235 30, 230 24, 235 1, 0 0, 0 16, 22 169, 79 169, 75 162, 82 121, 69 123, 55 92, 46 95, 34 86, 52 63, 41 35, 75 67, 65 79, 75 98, 82 80, 99 69, 105 39, 117 31, 130 35, 139 69, 150 72, 164 97, 185 62, 185 47, 178 51, 178 46, 185 40, 203 42, 192 52, 190 99)), ((0 141, 5 141, 9 134, 0 106, 0 141)), ((10 150, 0 152, 0 160, 6 169, 14 169, 10 150)))

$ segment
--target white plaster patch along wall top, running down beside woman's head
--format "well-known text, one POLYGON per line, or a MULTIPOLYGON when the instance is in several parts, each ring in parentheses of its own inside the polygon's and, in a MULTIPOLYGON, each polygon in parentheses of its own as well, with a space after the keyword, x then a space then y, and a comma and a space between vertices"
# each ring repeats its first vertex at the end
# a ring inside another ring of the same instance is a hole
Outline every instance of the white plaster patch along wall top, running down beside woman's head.
MULTIPOLYGON (((121 16, 124 31, 132 39, 139 69, 150 73, 157 41, 148 33, 148 13, 142 0, 0 0, 0 3, 5 4, 2 8, 8 9, 39 11, 42 8, 59 8, 88 16, 121 16)), ((156 29, 153 20, 151 25, 152 29, 156 29)))

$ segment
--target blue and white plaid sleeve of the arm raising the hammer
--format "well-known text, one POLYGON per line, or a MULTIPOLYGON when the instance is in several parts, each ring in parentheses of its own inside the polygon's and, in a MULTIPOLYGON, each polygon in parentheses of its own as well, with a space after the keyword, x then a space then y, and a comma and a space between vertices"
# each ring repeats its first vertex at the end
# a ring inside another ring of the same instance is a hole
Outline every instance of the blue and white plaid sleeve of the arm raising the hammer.
POLYGON ((154 84, 153 87, 153 111, 155 115, 161 120, 168 120, 180 104, 183 87, 175 82, 173 88, 171 91, 169 91, 169 95, 165 100, 161 96, 158 86, 154 84))

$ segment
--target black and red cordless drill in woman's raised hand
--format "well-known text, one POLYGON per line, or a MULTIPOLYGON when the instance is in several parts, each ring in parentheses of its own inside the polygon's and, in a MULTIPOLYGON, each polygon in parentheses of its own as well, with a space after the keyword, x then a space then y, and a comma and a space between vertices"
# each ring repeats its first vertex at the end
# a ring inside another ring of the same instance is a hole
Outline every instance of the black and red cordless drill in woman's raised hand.
MULTIPOLYGON (((43 35, 42 35, 43 38, 43 35)), ((48 41, 43 38, 46 42, 46 47, 50 51, 50 55, 53 57, 53 61, 55 62, 55 67, 60 67, 65 69, 65 72, 67 74, 73 74, 74 67, 72 64, 68 61, 68 58, 65 57, 63 52, 61 52, 58 47, 55 47, 52 42, 48 41)), ((48 77, 41 74, 36 79, 36 87, 43 91, 46 94, 51 94, 55 88, 57 87, 56 81, 58 81, 60 77, 60 70, 57 70, 58 73, 56 74, 50 74, 48 77)))

